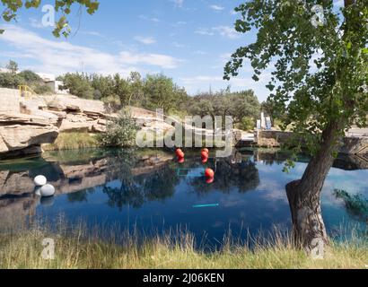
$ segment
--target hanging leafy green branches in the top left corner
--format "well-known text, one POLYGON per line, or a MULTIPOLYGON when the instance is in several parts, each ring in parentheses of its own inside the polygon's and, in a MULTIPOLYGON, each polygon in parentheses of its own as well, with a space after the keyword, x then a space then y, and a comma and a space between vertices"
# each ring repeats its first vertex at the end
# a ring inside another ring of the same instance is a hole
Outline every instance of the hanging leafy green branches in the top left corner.
MULTIPOLYGON (((17 13, 20 9, 26 8, 39 8, 41 4, 46 4, 44 0, 1 0, 4 5, 4 12, 2 13, 2 18, 5 22, 16 21, 17 13)), ((82 12, 84 7, 89 14, 95 13, 99 9, 99 1, 97 0, 55 0, 55 11, 60 13, 55 21, 55 28, 53 34, 56 37, 60 37, 60 34, 67 37, 70 32, 70 26, 67 21, 67 16, 72 12, 73 4, 79 4, 79 11, 82 12)), ((0 29, 0 34, 4 30, 0 29)))

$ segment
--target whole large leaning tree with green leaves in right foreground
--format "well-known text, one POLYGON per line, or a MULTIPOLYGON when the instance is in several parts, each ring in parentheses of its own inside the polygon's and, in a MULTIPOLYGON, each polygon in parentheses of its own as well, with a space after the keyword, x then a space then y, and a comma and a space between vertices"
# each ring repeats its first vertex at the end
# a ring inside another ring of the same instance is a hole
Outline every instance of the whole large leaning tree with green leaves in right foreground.
POLYGON ((345 0, 338 9, 332 0, 253 0, 235 11, 235 29, 257 38, 236 50, 224 78, 247 61, 256 81, 272 69, 270 99, 312 154, 302 178, 286 186, 295 243, 312 252, 329 242, 320 194, 340 140, 353 124, 367 124, 368 0, 345 0))

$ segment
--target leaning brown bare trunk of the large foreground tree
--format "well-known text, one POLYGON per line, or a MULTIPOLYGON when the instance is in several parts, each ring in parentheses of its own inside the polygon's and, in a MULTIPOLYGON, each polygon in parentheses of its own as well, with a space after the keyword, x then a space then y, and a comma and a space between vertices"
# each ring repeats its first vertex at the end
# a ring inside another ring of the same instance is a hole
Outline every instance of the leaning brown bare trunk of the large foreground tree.
POLYGON ((322 133, 320 151, 313 156, 302 179, 286 186, 296 246, 314 257, 323 257, 329 243, 321 215, 320 194, 337 147, 339 123, 331 123, 322 133))

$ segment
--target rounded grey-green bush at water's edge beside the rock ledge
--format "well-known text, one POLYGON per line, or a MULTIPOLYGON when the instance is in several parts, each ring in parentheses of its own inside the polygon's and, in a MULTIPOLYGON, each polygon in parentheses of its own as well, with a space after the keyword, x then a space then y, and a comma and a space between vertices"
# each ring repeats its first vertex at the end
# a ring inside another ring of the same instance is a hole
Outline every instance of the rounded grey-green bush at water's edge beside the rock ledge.
POLYGON ((127 111, 122 111, 118 118, 108 122, 106 133, 99 135, 99 141, 103 146, 133 146, 136 143, 136 131, 136 122, 127 111))

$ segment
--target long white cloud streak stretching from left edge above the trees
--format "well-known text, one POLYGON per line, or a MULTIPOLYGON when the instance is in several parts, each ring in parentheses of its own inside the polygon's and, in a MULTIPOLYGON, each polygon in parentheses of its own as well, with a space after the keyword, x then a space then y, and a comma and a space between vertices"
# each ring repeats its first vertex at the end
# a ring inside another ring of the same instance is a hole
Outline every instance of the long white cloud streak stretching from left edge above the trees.
POLYGON ((162 69, 172 69, 181 62, 179 59, 161 54, 131 51, 122 51, 118 55, 110 54, 66 41, 44 39, 36 33, 13 25, 6 25, 4 29, 0 41, 13 47, 13 52, 22 53, 34 61, 32 68, 37 72, 64 74, 80 71, 83 65, 87 72, 125 75, 138 70, 132 65, 153 65, 162 69))

